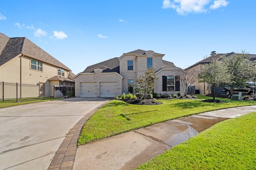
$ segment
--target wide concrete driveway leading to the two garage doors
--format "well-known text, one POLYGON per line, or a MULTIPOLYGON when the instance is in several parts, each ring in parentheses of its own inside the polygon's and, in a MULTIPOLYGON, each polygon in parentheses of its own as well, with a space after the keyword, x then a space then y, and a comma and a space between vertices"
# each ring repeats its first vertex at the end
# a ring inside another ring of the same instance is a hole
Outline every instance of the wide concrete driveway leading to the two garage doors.
POLYGON ((46 170, 66 135, 109 98, 68 98, 0 109, 0 169, 46 170))

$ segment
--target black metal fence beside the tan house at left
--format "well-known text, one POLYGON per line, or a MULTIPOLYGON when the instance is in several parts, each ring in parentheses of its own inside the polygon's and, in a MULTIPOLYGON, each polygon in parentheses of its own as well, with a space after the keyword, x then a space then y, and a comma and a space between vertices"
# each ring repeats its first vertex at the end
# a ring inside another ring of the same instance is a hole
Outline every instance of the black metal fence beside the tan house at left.
POLYGON ((33 100, 45 100, 51 98, 75 96, 74 87, 60 87, 62 87, 63 90, 59 92, 63 95, 55 96, 55 91, 57 90, 55 86, 40 85, 39 83, 19 84, 10 82, 0 82, 0 102, 28 102, 33 100))

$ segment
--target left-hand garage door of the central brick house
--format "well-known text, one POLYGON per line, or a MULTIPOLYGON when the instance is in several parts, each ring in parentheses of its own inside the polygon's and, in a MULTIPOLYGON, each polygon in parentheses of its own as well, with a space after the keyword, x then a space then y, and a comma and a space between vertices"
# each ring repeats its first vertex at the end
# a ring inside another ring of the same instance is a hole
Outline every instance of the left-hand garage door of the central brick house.
POLYGON ((96 82, 82 82, 80 83, 80 97, 97 97, 96 82))

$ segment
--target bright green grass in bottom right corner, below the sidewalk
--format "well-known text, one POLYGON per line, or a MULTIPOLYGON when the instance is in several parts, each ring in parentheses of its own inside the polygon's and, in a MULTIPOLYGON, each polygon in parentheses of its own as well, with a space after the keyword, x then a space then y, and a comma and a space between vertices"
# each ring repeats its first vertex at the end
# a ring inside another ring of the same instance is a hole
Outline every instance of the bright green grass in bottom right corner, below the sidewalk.
POLYGON ((256 112, 228 119, 142 164, 140 170, 255 170, 256 112))

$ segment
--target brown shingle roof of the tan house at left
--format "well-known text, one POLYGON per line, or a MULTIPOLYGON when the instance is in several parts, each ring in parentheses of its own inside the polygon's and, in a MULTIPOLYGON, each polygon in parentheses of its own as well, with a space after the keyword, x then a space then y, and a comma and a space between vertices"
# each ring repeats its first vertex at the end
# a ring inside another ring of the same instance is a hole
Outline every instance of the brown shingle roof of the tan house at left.
POLYGON ((65 70, 71 70, 60 61, 46 53, 26 37, 10 38, 0 33, 0 65, 10 61, 19 54, 48 63, 65 70))

